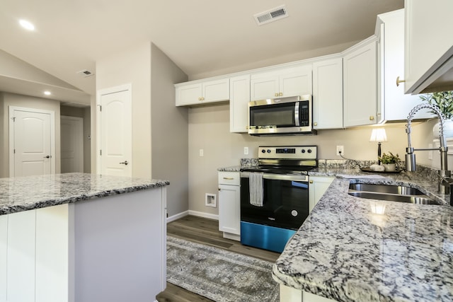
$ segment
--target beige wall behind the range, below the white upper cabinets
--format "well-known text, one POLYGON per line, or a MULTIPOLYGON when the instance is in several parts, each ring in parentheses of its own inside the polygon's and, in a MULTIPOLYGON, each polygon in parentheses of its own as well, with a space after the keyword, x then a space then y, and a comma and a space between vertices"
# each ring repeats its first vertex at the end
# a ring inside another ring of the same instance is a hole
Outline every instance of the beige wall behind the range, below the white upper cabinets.
MULTIPOLYGON (((413 146, 426 148, 432 143, 432 122, 413 124, 413 146)), ((386 124, 388 141, 382 152, 398 153, 404 159, 407 146, 405 123, 386 124)), ((189 209, 207 214, 218 214, 218 208, 205 206, 205 193, 217 194, 217 168, 239 165, 241 158, 257 158, 258 146, 316 145, 319 158, 341 159, 336 146, 345 147, 345 157, 355 160, 377 160, 377 143, 369 142, 372 127, 320 130, 315 136, 252 137, 229 132, 229 105, 212 105, 189 109, 189 209), (249 155, 243 154, 247 146, 249 155), (204 156, 200 157, 200 149, 204 156)), ((434 160, 428 152, 417 152, 418 163, 439 165, 437 151, 434 160)), ((452 158, 450 158, 452 161, 452 158)), ((453 165, 453 162, 452 164, 453 165)))

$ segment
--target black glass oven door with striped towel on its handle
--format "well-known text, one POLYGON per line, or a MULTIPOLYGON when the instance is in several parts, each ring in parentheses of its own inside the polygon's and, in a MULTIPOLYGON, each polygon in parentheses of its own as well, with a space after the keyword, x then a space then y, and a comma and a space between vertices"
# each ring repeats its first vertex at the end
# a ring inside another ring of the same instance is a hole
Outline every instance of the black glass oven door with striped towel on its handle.
POLYGON ((308 175, 263 174, 263 207, 250 203, 248 172, 241 173, 241 221, 297 230, 309 216, 308 175))

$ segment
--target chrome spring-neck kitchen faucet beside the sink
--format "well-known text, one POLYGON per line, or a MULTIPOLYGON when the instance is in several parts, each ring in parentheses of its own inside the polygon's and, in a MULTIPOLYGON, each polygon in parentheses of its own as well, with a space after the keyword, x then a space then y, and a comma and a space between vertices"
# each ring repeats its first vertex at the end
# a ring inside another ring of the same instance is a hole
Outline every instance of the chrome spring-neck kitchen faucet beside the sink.
POLYGON ((447 164, 447 143, 445 140, 444 135, 444 120, 445 117, 442 115, 442 112, 435 107, 434 105, 430 104, 420 104, 416 105, 408 115, 408 123, 406 124, 406 133, 408 134, 408 147, 406 148, 406 171, 411 172, 415 171, 415 154, 414 151, 430 151, 430 150, 439 150, 440 151, 440 170, 438 171, 438 175, 440 177, 439 180, 439 191, 444 194, 449 194, 450 192, 450 184, 452 184, 453 179, 450 178, 451 172, 448 170, 447 164), (440 131, 439 131, 439 140, 440 140, 440 148, 427 148, 427 149, 414 149, 411 144, 411 122, 413 120, 413 116, 415 115, 418 110, 428 108, 435 112, 436 115, 439 117, 440 120, 440 131))

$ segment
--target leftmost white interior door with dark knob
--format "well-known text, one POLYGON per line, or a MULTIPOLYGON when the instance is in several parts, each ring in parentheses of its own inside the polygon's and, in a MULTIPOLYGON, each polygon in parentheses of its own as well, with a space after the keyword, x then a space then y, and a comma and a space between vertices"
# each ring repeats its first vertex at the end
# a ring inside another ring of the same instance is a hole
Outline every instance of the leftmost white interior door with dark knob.
POLYGON ((55 173, 54 112, 9 108, 11 177, 55 173))

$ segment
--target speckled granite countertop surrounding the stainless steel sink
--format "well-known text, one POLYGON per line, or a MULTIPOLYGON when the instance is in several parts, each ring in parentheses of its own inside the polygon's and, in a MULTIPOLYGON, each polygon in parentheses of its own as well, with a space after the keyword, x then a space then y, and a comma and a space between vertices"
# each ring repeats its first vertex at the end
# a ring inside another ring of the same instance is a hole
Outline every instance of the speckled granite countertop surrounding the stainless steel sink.
MULTIPOLYGON (((370 175, 319 168, 310 175, 370 175)), ((273 266, 294 289, 336 301, 453 301, 453 207, 419 173, 333 180, 273 266), (418 187, 443 205, 348 195, 350 182, 418 187)))

